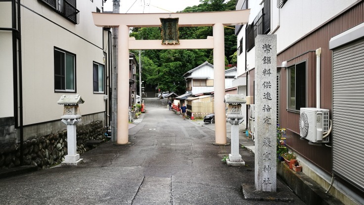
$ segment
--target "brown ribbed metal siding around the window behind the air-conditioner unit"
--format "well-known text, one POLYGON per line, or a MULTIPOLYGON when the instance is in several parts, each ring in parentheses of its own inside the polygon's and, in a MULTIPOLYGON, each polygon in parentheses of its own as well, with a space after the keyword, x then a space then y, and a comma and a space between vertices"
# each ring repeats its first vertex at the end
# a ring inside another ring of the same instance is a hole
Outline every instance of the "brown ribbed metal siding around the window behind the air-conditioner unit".
MULTIPOLYGON (((307 106, 316 107, 316 53, 321 47, 321 100, 320 107, 329 109, 332 115, 332 51, 328 49, 332 37, 364 22, 364 2, 348 9, 338 17, 297 41, 277 56, 277 63, 287 61, 287 66, 306 61, 307 65, 307 106), (289 60, 289 61, 288 61, 289 60)), ((332 153, 326 146, 309 145, 300 140, 299 113, 288 112, 287 108, 287 70, 281 70, 280 125, 287 128, 287 145, 303 157, 331 173, 332 153)), ((331 119, 331 118, 330 118, 331 119)), ((331 139, 330 139, 331 141, 331 139)))

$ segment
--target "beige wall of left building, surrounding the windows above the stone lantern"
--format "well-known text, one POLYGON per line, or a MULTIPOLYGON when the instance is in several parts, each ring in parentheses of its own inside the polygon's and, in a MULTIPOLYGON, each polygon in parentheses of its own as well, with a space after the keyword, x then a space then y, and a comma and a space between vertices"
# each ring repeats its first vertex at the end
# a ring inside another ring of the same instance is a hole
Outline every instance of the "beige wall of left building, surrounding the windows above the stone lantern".
POLYGON ((79 24, 73 24, 39 1, 24 3, 27 6, 21 8, 24 125, 60 119, 63 106, 57 101, 64 94, 82 96, 85 103, 80 105, 81 115, 105 111, 103 94, 93 94, 92 87, 93 61, 104 64, 103 31, 94 26, 91 16, 95 4, 77 1, 79 24), (54 47, 76 56, 76 93, 54 92, 54 47))

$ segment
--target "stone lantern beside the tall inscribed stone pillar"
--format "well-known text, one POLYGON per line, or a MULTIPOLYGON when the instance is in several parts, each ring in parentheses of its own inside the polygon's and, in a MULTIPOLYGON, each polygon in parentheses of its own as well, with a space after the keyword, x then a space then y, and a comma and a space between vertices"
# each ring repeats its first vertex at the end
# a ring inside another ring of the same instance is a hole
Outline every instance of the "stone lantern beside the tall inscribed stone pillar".
POLYGON ((231 166, 244 166, 245 162, 239 154, 239 124, 244 121, 241 105, 246 103, 246 99, 244 95, 227 94, 225 103, 228 104, 227 121, 231 124, 231 153, 226 162, 231 166))

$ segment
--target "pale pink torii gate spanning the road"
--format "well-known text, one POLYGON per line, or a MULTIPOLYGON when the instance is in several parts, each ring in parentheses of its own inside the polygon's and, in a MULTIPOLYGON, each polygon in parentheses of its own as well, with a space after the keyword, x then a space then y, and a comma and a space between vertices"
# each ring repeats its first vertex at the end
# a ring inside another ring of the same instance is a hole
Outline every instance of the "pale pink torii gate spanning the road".
MULTIPOLYGON (((118 90, 117 144, 129 143, 128 101, 120 96, 129 95, 129 49, 214 49, 214 111, 215 144, 227 144, 225 116, 225 40, 224 26, 247 24, 250 9, 235 11, 191 13, 96 13, 93 22, 98 27, 119 28, 118 37, 118 90), (180 44, 161 44, 161 40, 135 40, 129 38, 129 27, 160 27, 160 18, 179 18, 180 27, 212 26, 213 37, 203 40, 180 40, 180 44)), ((114 133, 113 133, 114 134, 114 133)))

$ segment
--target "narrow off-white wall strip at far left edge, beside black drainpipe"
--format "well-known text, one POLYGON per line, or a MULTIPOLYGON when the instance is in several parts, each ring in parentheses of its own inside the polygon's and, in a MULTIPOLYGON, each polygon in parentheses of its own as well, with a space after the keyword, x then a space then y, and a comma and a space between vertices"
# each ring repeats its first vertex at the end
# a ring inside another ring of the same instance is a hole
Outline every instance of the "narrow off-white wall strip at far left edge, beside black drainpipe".
MULTIPOLYGON (((11 2, 0 1, 0 27, 11 28, 11 2)), ((14 117, 12 32, 0 31, 0 118, 14 117)))

